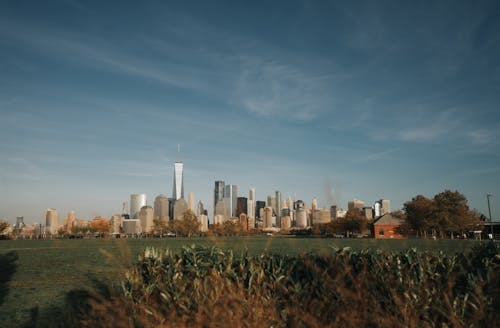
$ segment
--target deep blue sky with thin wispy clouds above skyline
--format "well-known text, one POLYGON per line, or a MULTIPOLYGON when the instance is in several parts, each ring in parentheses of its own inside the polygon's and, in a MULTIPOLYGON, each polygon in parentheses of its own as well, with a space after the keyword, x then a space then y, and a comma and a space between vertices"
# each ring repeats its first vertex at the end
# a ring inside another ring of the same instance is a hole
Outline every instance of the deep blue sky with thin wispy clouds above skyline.
MULTIPOLYGON (((0 2, 0 219, 216 180, 500 219, 500 2, 0 2), (178 154, 178 144, 181 153, 178 154)), ((212 218, 210 217, 210 220, 212 218)))

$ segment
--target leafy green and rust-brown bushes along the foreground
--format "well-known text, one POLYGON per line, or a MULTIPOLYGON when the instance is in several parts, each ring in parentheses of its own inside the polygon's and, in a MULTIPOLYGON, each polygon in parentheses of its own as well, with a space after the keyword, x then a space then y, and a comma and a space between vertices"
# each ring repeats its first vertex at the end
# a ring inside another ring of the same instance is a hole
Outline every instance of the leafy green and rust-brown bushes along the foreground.
POLYGON ((114 318, 119 326, 497 326, 499 269, 494 243, 465 255, 147 248, 121 292, 94 303, 84 322, 99 325, 93 319, 118 307, 130 313, 114 318))

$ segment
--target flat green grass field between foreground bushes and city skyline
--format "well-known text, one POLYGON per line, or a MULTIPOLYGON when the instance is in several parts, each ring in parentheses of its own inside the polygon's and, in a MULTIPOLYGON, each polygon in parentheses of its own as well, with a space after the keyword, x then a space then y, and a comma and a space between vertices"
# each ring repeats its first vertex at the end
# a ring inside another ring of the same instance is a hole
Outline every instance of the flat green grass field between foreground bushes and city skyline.
POLYGON ((147 246, 179 252, 183 245, 216 245, 234 252, 296 255, 331 247, 388 251, 464 252, 477 244, 463 240, 373 240, 296 237, 171 238, 122 240, 0 241, 0 320, 3 327, 51 322, 68 292, 93 289, 96 281, 119 284, 147 246))

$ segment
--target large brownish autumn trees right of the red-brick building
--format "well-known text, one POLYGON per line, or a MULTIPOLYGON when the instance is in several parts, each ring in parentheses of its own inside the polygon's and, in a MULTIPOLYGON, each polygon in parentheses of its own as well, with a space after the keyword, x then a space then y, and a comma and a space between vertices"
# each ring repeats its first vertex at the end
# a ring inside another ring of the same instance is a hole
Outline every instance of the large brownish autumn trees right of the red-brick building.
POLYGON ((408 228, 426 237, 436 232, 440 237, 462 235, 479 223, 477 213, 471 211, 467 199, 458 191, 445 190, 428 199, 422 195, 404 204, 408 228))

